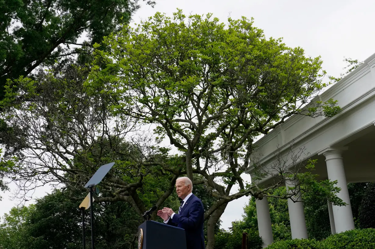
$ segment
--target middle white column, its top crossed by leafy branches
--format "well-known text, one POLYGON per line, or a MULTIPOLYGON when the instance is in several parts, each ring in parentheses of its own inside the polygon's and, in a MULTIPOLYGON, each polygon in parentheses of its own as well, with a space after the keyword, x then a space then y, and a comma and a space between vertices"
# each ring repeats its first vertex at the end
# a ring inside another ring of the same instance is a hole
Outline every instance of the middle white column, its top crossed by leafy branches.
MULTIPOLYGON (((285 182, 287 187, 295 187, 296 184, 287 181, 285 182)), ((305 213, 303 212, 303 203, 301 198, 301 192, 298 191, 297 195, 292 197, 298 202, 294 202, 291 199, 288 199, 288 210, 289 210, 289 219, 290 219, 290 228, 292 231, 292 239, 308 239, 305 213)))

